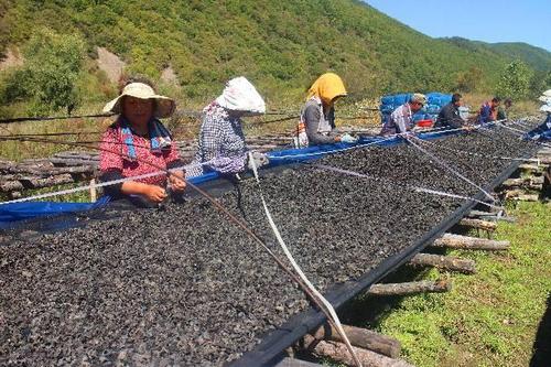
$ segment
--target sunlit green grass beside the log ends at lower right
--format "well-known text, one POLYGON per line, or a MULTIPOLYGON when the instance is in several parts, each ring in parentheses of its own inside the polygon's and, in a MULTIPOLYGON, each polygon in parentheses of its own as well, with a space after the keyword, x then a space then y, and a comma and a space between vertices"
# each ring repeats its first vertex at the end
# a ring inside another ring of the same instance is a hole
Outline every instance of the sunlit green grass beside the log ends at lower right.
POLYGON ((359 324, 397 337, 403 358, 415 366, 530 365, 551 293, 551 211, 549 204, 520 203, 511 214, 518 222, 499 223, 497 231, 498 239, 510 240, 509 251, 449 251, 475 260, 477 273, 422 272, 418 278, 453 278, 453 290, 359 300, 356 310, 377 314, 359 324))

